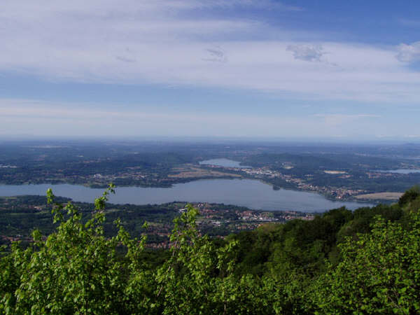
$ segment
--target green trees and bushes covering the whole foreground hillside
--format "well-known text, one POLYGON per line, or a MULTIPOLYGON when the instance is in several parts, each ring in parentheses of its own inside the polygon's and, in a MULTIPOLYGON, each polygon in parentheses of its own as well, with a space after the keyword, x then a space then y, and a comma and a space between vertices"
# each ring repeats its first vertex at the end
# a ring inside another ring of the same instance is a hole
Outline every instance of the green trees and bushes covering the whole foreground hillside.
POLYGON ((1 313, 420 313, 419 188, 398 204, 334 209, 225 240, 201 236, 188 207, 160 260, 118 220, 117 234, 104 235, 112 192, 88 221, 71 202, 55 204, 55 232, 34 231, 33 246, 4 253, 1 313))

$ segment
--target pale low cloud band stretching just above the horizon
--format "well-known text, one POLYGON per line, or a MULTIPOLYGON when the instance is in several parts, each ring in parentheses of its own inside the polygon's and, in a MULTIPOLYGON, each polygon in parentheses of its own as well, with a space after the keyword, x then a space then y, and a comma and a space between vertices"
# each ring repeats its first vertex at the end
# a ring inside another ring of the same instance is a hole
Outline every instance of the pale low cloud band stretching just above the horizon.
POLYGON ((0 137, 34 134, 46 137, 167 136, 204 137, 406 137, 418 134, 416 116, 399 121, 371 113, 285 114, 206 113, 137 104, 124 111, 113 104, 72 104, 33 99, 0 99, 0 137), (104 106, 106 105, 106 106, 104 106), (112 126, 112 128, 109 128, 112 126), (293 136, 292 136, 293 135, 293 136))

